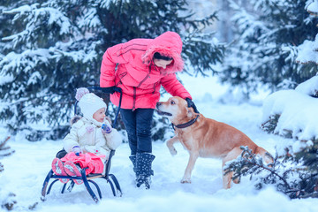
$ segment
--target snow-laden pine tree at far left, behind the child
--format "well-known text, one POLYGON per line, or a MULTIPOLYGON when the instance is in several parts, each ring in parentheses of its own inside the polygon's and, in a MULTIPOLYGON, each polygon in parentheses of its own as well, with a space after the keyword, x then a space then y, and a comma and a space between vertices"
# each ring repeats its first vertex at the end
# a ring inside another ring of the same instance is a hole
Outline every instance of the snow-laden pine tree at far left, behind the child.
MULTIPOLYGON (((86 35, 89 29, 81 32, 74 24, 81 22, 78 13, 85 5, 65 4, 34 1, 3 10, 13 25, 11 35, 2 40, 5 57, 0 67, 6 80, 1 84, 1 97, 6 104, 1 117, 12 131, 29 130, 29 140, 38 136, 32 123, 42 122, 53 129, 65 125, 73 89, 91 80, 90 72, 97 69, 98 42, 86 35), (18 28, 13 27, 16 23, 18 28)), ((56 131, 49 132, 58 137, 56 131)))

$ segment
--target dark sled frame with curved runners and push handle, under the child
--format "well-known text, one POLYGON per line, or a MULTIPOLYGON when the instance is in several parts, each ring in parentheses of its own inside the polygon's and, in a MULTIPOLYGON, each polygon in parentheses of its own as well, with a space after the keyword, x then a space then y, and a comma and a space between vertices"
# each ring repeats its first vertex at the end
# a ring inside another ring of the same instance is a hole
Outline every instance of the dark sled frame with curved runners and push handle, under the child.
MULTIPOLYGON (((110 90, 109 88, 106 87, 87 87, 89 90, 101 90, 103 93, 106 94, 111 94, 112 90, 110 90)), ((118 117, 118 113, 120 110, 120 106, 121 106, 121 100, 122 100, 122 91, 120 88, 116 87, 116 91, 120 93, 120 100, 119 100, 119 105, 117 108, 117 112, 116 112, 116 116, 113 122, 113 127, 116 126, 116 122, 117 122, 117 117, 118 117)), ((75 115, 77 114, 77 102, 75 102, 75 107, 74 107, 74 113, 75 115)), ((57 157, 59 157, 58 155, 65 152, 64 150, 61 150, 57 153, 57 157)), ((66 152, 65 152, 66 153, 66 152)), ((42 186, 42 197, 41 200, 42 201, 46 201, 46 195, 50 193, 50 190, 52 188, 52 186, 58 182, 60 178, 64 178, 64 179, 69 179, 69 183, 65 183, 64 186, 62 187, 61 193, 71 193, 72 192, 72 188, 75 186, 75 182, 74 180, 82 180, 83 181, 83 185, 87 188, 87 192, 90 194, 90 196, 93 198, 93 200, 97 203, 100 199, 102 199, 102 192, 100 187, 95 183, 95 181, 93 181, 93 179, 95 178, 103 178, 106 180, 107 183, 110 184, 110 188, 111 191, 113 193, 114 196, 121 196, 122 195, 122 191, 121 188, 119 186, 118 180, 115 177, 115 175, 110 174, 110 164, 111 164, 111 158, 112 156, 115 154, 115 150, 110 150, 110 157, 109 159, 104 163, 105 166, 105 174, 86 174, 86 170, 87 168, 83 168, 81 169, 80 173, 81 176, 79 177, 71 177, 71 176, 61 176, 61 175, 56 175, 53 170, 49 170, 48 175, 46 176, 43 186, 42 186), (53 181, 49 184, 49 180, 53 179, 53 181), (66 186, 69 184, 69 186, 66 188, 66 186), (94 185, 95 189, 97 190, 98 193, 98 197, 96 196, 96 194, 94 193, 92 187, 90 185, 94 185), (49 187, 48 187, 49 186, 49 187)))

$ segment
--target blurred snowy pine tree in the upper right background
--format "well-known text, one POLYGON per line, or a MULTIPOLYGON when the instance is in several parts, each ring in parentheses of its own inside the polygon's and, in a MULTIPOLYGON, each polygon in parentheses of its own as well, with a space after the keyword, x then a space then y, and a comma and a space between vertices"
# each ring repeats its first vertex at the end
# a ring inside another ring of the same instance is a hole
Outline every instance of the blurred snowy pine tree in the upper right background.
POLYGON ((292 88, 317 73, 316 66, 295 63, 297 46, 318 33, 305 1, 253 0, 246 7, 230 2, 235 39, 224 57, 223 81, 248 94, 259 85, 292 88))

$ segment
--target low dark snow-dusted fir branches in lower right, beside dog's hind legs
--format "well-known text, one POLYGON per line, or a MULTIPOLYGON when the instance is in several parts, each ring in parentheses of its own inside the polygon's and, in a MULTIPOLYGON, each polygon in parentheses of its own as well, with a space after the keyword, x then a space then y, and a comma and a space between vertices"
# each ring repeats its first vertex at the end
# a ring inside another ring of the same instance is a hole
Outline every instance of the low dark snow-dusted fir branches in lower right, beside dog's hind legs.
POLYGON ((254 180, 254 186, 261 189, 266 185, 276 186, 276 190, 285 193, 291 199, 318 198, 318 140, 311 155, 299 153, 296 157, 276 157, 273 163, 265 164, 260 156, 254 155, 252 150, 241 147, 242 154, 227 163, 225 173, 234 171, 233 179, 249 176, 254 180), (308 158, 311 158, 308 160, 308 158))

